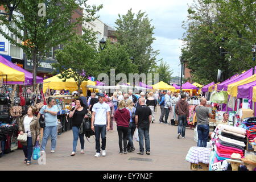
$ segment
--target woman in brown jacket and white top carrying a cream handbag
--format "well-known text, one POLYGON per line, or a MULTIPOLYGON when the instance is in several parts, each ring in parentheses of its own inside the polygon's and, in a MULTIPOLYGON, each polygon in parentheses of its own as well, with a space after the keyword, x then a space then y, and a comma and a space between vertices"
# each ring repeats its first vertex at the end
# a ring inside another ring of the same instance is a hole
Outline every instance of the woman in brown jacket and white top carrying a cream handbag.
POLYGON ((40 138, 40 125, 38 119, 34 115, 35 112, 36 107, 28 107, 27 114, 19 121, 20 134, 27 133, 27 141, 21 142, 25 155, 24 163, 27 164, 27 166, 31 164, 33 146, 35 146, 36 141, 39 141, 40 138))

